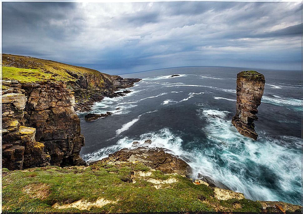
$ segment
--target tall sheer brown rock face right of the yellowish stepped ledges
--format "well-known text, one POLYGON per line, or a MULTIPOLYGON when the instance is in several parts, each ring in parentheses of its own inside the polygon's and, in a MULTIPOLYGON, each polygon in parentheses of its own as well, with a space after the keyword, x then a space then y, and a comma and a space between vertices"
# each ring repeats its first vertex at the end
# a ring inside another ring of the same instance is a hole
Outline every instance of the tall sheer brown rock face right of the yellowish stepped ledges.
POLYGON ((74 111, 74 93, 62 83, 22 84, 27 97, 25 125, 36 128, 36 140, 45 144, 50 164, 83 165, 80 120, 74 111))

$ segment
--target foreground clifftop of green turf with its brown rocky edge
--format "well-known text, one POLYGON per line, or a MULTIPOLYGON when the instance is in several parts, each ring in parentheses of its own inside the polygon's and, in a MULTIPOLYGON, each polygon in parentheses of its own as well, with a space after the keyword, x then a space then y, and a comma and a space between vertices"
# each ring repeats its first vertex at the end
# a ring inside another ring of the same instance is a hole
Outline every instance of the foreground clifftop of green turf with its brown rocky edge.
POLYGON ((300 212, 189 178, 188 165, 134 142, 90 166, 2 169, 4 212, 300 212), (18 191, 16 191, 18 189, 18 191))

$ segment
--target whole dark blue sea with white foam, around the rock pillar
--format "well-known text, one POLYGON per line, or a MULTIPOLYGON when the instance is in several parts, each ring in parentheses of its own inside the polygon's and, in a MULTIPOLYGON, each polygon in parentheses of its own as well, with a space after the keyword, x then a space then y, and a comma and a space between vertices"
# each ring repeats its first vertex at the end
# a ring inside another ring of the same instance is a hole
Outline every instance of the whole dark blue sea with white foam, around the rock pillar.
POLYGON ((300 71, 258 70, 266 85, 256 121, 258 140, 231 125, 236 112, 236 74, 245 69, 182 67, 124 78, 143 78, 125 97, 105 98, 95 113, 110 117, 86 122, 81 117, 90 162, 151 139, 179 155, 198 174, 210 176, 252 200, 301 201, 300 71), (172 74, 179 77, 169 78, 172 74), (117 108, 120 110, 116 110, 117 108))

